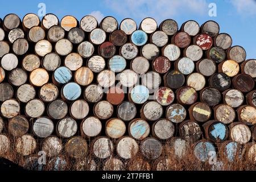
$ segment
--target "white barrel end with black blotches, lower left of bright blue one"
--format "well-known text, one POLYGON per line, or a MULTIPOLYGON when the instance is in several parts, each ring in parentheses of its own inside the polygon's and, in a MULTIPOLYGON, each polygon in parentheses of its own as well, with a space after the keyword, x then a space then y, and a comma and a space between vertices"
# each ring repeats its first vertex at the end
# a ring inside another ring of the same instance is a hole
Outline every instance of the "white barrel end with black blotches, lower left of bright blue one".
POLYGON ((133 43, 126 43, 120 48, 120 55, 125 57, 127 60, 134 59, 138 55, 138 48, 133 43))

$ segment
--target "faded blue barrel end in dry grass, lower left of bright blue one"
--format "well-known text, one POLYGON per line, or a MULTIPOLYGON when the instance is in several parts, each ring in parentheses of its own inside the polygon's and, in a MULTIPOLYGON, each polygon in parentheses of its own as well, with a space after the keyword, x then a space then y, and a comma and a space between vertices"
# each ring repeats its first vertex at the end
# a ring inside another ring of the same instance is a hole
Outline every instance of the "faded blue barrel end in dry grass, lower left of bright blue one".
POLYGON ((201 162, 206 162, 209 160, 209 152, 216 152, 215 147, 212 143, 205 140, 200 140, 195 144, 194 154, 196 158, 201 162))

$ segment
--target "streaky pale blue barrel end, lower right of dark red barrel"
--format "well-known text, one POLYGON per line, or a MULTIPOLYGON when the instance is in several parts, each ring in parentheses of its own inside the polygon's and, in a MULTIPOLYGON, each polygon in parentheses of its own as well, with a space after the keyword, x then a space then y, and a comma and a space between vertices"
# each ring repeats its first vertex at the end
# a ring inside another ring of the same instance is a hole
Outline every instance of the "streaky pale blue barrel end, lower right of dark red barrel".
POLYGON ((109 59, 108 67, 113 72, 122 72, 126 68, 126 60, 123 56, 115 55, 109 59))

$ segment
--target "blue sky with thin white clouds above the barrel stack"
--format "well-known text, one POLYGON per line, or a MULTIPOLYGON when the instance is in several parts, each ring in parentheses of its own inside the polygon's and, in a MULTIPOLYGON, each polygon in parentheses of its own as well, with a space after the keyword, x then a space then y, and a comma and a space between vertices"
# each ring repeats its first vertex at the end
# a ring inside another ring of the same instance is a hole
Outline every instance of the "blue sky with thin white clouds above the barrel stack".
POLYGON ((255 0, 94 0, 94 1, 1 1, 0 18, 15 13, 21 18, 27 13, 38 13, 38 4, 46 4, 46 13, 56 14, 59 19, 64 15, 74 15, 77 19, 92 14, 97 19, 112 15, 119 22, 133 18, 138 24, 143 18, 151 16, 158 23, 164 19, 175 19, 179 26, 189 19, 199 24, 215 20, 221 31, 230 34, 233 46, 246 49, 247 59, 256 59, 256 1, 255 0), (208 7, 216 3, 217 16, 210 17, 208 7))

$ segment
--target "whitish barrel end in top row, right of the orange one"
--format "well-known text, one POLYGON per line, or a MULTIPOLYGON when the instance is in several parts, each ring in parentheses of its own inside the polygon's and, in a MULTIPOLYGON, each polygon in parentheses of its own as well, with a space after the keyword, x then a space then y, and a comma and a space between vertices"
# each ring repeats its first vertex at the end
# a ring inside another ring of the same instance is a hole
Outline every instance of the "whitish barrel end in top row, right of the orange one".
POLYGON ((94 16, 86 15, 80 20, 80 28, 85 32, 91 32, 94 28, 98 27, 97 19, 94 16))

